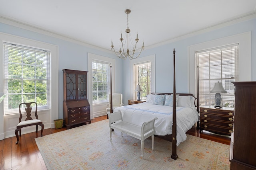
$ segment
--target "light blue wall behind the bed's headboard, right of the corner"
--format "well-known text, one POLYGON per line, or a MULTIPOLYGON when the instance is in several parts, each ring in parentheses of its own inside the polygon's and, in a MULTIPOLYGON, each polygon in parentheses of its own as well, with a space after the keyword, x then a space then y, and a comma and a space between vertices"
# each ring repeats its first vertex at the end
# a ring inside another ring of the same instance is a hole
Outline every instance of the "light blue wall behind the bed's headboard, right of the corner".
MULTIPOLYGON (((174 25, 175 26, 175 25, 174 25)), ((171 30, 170 30, 171 31, 171 30)), ((160 47, 146 49, 140 57, 156 55, 156 92, 172 92, 173 91, 173 49, 176 51, 176 92, 189 93, 189 61, 188 47, 206 41, 212 41, 239 33, 251 31, 252 33, 252 60, 251 75, 252 81, 256 81, 256 19, 243 21, 234 25, 222 27, 214 31, 194 35, 186 39, 172 42, 160 47)), ((146 44, 145 44, 146 46, 146 44)), ((243 57, 243 54, 240 55, 243 57)), ((124 70, 129 70, 129 61, 124 64, 124 70)), ((124 72, 124 90, 125 94, 129 94, 130 73, 124 72)), ((127 99, 127 96, 124 96, 127 99)))

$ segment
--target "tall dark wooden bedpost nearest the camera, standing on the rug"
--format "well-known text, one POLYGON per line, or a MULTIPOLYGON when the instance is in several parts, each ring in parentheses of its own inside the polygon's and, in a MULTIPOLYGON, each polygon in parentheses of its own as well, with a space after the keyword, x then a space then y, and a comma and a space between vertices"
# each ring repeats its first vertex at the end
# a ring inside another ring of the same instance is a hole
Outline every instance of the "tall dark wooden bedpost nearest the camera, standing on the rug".
POLYGON ((172 156, 171 158, 176 160, 177 155, 177 128, 176 128, 176 82, 175 82, 175 49, 173 49, 173 111, 172 111, 172 156))

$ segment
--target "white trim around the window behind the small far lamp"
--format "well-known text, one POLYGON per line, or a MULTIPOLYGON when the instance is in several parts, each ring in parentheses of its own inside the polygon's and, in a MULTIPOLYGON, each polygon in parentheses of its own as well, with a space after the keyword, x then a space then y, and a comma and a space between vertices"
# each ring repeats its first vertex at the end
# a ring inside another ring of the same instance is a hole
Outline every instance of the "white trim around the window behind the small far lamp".
POLYGON ((135 79, 135 71, 134 71, 134 64, 140 63, 148 63, 151 62, 151 92, 155 92, 155 55, 149 55, 146 57, 140 57, 137 59, 130 60, 130 99, 134 99, 135 93, 134 90, 134 79, 135 79))

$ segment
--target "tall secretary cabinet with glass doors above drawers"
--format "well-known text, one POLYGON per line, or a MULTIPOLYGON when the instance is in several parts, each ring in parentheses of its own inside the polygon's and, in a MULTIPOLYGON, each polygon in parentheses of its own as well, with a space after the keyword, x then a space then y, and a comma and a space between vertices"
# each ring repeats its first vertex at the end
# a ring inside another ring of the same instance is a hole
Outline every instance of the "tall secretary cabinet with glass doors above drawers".
POLYGON ((63 118, 67 129, 82 123, 91 123, 87 100, 87 71, 63 69, 63 118))

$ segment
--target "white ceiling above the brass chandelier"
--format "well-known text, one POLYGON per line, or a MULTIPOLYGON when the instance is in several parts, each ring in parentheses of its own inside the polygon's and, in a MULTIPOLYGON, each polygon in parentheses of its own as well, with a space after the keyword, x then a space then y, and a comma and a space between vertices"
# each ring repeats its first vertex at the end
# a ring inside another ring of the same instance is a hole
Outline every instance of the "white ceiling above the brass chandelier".
POLYGON ((256 14, 256 0, 0 0, 2 18, 109 50, 124 35, 126 9, 133 39, 152 47, 256 14))

